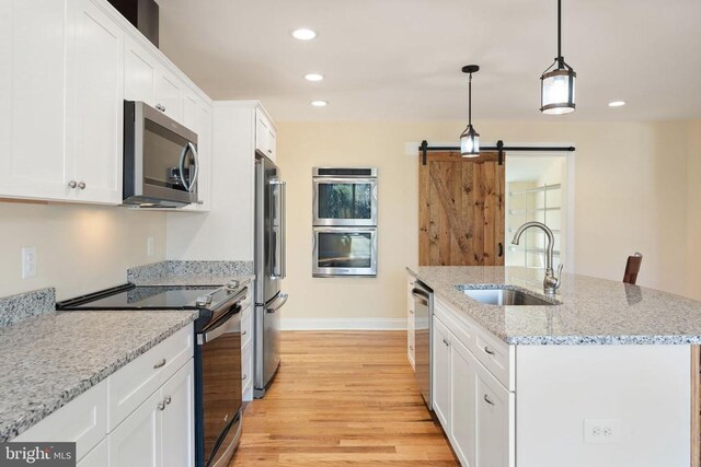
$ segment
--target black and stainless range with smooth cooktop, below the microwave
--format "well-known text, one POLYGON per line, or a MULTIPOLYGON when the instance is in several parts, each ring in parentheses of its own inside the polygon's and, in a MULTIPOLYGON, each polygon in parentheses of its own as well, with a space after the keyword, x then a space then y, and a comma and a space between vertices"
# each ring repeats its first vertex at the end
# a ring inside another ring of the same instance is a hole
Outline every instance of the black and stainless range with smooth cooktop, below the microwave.
POLYGON ((248 287, 137 287, 83 295, 57 310, 199 310, 195 322, 195 465, 223 467, 241 436, 241 304, 248 287))

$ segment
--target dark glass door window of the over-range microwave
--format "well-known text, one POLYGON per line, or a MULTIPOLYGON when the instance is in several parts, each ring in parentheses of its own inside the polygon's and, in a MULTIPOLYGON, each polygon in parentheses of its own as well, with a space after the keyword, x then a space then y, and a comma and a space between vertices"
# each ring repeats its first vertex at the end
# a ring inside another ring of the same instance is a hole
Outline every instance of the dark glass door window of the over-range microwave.
POLYGON ((189 185, 195 174, 195 156, 187 150, 187 140, 163 128, 153 120, 143 124, 143 179, 147 184, 187 191, 183 179, 189 185), (181 157, 183 176, 181 177, 181 157))

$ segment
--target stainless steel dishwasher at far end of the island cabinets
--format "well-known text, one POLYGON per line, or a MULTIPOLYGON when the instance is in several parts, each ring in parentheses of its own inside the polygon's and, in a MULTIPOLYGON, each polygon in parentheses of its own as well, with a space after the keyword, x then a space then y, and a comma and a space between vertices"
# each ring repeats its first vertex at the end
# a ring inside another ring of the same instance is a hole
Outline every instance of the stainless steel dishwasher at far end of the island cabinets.
POLYGON ((416 280, 412 290, 414 297, 414 358, 416 382, 428 410, 433 410, 430 384, 430 349, 433 332, 430 322, 434 314, 434 291, 416 280))

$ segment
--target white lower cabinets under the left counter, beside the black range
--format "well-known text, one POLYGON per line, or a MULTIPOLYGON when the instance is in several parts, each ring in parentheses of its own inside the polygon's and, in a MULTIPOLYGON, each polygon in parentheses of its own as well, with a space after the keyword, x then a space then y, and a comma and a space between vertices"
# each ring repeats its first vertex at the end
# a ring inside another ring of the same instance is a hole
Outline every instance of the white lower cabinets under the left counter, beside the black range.
POLYGON ((79 467, 194 466, 192 336, 179 330, 11 441, 76 442, 79 467))

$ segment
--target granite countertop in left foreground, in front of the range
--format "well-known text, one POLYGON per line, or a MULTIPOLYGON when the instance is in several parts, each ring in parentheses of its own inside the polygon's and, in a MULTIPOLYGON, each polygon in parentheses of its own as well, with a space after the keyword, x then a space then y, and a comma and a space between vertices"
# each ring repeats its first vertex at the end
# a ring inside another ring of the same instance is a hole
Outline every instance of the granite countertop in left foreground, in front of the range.
POLYGON ((66 312, 0 328, 0 442, 196 318, 196 311, 66 312))

